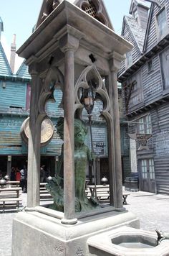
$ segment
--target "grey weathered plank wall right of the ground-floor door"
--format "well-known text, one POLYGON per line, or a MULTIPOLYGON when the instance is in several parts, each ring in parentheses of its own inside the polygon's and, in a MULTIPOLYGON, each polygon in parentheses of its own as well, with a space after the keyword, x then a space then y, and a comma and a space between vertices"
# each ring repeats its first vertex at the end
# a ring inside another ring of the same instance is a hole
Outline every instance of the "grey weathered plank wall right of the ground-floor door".
POLYGON ((153 109, 153 148, 158 193, 169 194, 169 105, 153 109))

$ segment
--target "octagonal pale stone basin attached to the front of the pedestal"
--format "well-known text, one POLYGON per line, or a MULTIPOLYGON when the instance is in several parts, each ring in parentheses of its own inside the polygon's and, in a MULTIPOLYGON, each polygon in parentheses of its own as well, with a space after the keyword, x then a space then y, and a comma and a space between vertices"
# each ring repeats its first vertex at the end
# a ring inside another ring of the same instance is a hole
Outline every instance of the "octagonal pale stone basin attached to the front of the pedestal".
POLYGON ((158 244, 157 238, 155 232, 120 227, 90 237, 87 244, 95 256, 169 256, 169 240, 158 244))

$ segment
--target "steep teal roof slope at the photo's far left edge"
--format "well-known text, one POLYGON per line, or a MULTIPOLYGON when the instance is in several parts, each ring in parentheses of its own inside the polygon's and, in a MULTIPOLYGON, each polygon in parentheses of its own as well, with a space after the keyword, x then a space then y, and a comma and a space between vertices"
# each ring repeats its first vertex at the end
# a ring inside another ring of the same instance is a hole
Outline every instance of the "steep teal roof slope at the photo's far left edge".
POLYGON ((9 62, 0 42, 0 76, 12 76, 9 62))

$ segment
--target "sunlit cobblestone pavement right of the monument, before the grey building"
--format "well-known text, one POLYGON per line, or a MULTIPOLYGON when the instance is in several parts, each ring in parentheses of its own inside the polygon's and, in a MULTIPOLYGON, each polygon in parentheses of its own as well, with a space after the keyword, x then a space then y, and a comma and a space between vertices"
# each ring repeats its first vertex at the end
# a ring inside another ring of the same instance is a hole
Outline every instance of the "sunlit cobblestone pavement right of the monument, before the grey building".
POLYGON ((141 229, 169 232, 169 196, 143 191, 129 193, 125 208, 140 219, 141 229))

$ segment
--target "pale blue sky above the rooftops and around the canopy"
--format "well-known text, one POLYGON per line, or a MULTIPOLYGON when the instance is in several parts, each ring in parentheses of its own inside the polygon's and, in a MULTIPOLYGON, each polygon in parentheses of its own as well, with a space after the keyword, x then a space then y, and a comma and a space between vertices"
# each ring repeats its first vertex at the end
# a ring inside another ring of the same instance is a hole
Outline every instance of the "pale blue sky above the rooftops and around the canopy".
MULTIPOLYGON (((120 34, 122 18, 129 13, 131 0, 104 0, 104 3, 115 32, 120 34)), ((4 22, 1 42, 8 58, 13 34, 16 34, 16 49, 18 49, 32 34, 41 6, 42 0, 0 0, 0 17, 4 22)), ((17 59, 16 66, 18 65, 17 59)))

